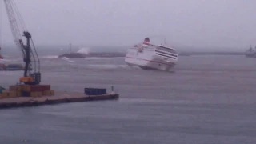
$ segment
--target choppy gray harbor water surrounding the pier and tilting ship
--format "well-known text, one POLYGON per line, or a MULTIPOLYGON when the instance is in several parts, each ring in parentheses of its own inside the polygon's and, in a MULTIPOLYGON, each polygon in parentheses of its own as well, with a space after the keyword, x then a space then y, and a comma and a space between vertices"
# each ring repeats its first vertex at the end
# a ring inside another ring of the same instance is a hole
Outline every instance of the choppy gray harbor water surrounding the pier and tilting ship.
MULTIPOLYGON (((54 90, 114 86, 120 99, 1 110, 1 143, 256 142, 254 58, 180 57, 175 73, 131 69, 124 58, 41 60, 54 90)), ((20 75, 0 72, 1 86, 20 75)))

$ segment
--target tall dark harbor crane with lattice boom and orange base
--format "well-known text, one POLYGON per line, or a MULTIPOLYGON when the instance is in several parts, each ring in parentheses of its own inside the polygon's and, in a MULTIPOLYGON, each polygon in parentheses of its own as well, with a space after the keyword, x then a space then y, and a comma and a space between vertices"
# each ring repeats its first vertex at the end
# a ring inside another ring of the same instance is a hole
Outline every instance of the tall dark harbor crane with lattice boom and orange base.
POLYGON ((25 22, 23 22, 14 0, 3 1, 14 42, 18 49, 22 51, 23 62, 25 62, 24 74, 19 78, 19 82, 25 85, 38 85, 41 82, 40 60, 32 36, 26 29, 25 22), (26 44, 23 43, 22 36, 26 38, 26 44))

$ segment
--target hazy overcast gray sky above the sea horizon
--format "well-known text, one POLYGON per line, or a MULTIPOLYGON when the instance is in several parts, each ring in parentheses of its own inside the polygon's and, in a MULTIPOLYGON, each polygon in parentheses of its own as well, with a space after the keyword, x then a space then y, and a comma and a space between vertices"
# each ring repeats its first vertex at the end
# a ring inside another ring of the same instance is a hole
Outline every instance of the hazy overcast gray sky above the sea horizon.
MULTIPOLYGON (((130 46, 166 35, 174 46, 256 45, 255 0, 15 0, 37 45, 130 46)), ((1 2, 2 43, 14 43, 1 2)))

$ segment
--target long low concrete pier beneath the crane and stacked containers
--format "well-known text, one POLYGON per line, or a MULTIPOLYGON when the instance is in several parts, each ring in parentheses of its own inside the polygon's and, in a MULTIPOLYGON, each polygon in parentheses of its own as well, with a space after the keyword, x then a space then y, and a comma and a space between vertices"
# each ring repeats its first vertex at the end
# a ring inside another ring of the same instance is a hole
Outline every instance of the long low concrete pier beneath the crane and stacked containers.
POLYGON ((86 95, 78 92, 55 91, 52 96, 1 98, 0 109, 53 105, 66 102, 88 102, 118 99, 119 94, 86 95))

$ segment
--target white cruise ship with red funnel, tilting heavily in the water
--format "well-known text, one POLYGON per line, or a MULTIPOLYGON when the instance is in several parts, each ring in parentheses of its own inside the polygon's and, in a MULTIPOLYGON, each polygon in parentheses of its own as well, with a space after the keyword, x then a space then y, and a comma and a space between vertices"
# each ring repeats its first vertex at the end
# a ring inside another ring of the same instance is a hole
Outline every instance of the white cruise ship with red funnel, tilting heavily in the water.
POLYGON ((145 38, 143 43, 127 50, 125 62, 143 70, 169 71, 177 64, 178 54, 169 46, 154 45, 150 43, 150 38, 145 38))

